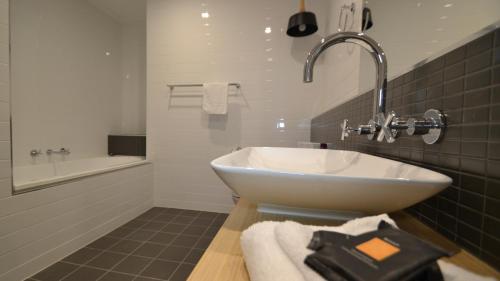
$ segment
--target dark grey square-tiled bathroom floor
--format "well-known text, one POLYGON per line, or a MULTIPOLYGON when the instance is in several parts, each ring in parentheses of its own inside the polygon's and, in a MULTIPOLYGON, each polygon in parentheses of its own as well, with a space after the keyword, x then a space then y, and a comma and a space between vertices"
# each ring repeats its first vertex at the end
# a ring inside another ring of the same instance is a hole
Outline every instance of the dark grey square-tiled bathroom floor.
POLYGON ((155 207, 30 279, 186 280, 226 218, 226 214, 155 207))

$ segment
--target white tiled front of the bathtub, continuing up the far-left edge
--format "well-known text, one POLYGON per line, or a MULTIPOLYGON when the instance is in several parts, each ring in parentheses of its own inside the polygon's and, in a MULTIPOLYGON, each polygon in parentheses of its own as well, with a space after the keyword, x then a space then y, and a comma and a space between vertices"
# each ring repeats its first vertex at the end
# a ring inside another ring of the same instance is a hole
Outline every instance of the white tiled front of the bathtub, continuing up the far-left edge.
MULTIPOLYGON (((8 53, 8 0, 0 0, 8 53)), ((8 55, 0 55, 0 280, 31 276, 153 205, 151 164, 11 195, 8 55)))

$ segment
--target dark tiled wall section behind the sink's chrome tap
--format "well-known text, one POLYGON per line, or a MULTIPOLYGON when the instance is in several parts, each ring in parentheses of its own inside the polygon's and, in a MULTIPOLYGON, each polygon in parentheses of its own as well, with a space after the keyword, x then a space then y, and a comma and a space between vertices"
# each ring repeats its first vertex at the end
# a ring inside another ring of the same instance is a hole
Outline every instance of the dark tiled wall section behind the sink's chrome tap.
MULTIPOLYGON (((389 58, 390 60, 390 58, 389 58)), ((500 30, 491 32, 388 83, 388 110, 421 117, 430 108, 448 117, 439 144, 404 133, 393 144, 351 135, 340 124, 366 124, 373 92, 312 120, 311 141, 423 166, 453 179, 445 191, 408 211, 500 269, 500 30)))

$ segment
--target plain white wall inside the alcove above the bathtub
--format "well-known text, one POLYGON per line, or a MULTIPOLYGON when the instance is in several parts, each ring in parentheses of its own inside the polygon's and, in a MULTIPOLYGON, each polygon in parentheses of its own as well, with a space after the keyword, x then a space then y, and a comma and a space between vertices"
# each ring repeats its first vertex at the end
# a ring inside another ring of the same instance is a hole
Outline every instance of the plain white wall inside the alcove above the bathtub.
POLYGON ((34 161, 32 149, 102 157, 108 134, 145 133, 145 16, 123 22, 80 0, 12 3, 14 166, 62 158, 34 161))

